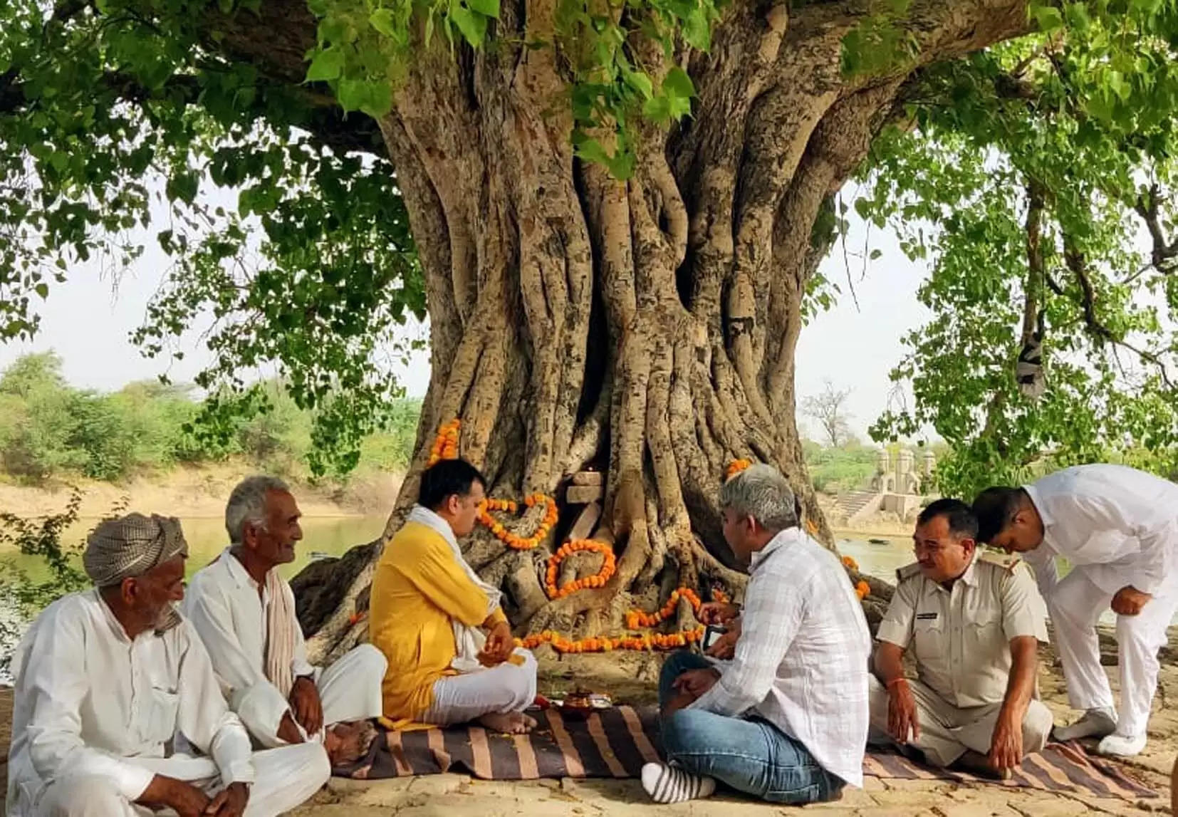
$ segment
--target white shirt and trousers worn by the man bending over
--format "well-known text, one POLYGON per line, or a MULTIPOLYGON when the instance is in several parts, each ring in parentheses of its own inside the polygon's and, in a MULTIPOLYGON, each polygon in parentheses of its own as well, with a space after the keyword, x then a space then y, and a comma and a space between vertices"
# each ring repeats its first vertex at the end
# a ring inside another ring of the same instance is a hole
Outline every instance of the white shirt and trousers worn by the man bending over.
POLYGON ((1145 733, 1158 683, 1158 650, 1178 610, 1178 486, 1124 466, 1077 466, 1026 486, 1044 523, 1024 556, 1047 602, 1072 706, 1113 709, 1096 624, 1132 586, 1153 599, 1117 617, 1121 705, 1117 734, 1145 733), (1059 579, 1055 556, 1072 565, 1059 579))

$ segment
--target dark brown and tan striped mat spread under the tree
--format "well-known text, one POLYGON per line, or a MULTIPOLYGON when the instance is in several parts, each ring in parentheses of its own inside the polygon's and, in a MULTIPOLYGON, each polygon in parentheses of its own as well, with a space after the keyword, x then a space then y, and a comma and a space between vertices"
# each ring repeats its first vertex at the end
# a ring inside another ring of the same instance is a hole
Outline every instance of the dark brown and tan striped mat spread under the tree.
MULTIPOLYGON (((536 712, 531 734, 496 734, 479 726, 409 732, 379 730, 368 757, 335 773, 356 779, 461 772, 482 779, 531 780, 542 777, 637 777, 643 763, 659 759, 659 723, 653 709, 616 706, 587 720, 562 718, 555 710, 536 712)), ((863 773, 888 779, 952 780, 1024 786, 1041 791, 1083 792, 1096 797, 1137 799, 1158 793, 1120 766, 1090 757, 1079 744, 1048 744, 995 783, 962 772, 931 769, 902 755, 872 750, 863 773)))

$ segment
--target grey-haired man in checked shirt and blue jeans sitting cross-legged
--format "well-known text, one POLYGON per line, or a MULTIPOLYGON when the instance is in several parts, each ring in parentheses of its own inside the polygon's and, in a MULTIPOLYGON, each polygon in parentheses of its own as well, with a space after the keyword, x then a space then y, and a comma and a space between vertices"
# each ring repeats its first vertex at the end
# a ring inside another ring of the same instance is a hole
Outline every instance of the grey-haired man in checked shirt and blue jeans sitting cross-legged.
MULTIPOLYGON (((642 769, 659 803, 716 782, 801 805, 862 785, 871 635, 839 559, 799 527, 786 479, 752 466, 720 492, 724 539, 749 566, 730 661, 677 653, 659 683, 666 763, 642 769)), ((708 605, 706 621, 736 621, 708 605)))

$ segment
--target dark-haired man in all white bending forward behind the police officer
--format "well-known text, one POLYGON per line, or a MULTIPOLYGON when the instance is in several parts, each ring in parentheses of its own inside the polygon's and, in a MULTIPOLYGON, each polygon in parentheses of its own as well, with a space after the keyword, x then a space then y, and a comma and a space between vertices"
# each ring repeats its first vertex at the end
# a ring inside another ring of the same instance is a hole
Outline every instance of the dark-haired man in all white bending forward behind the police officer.
POLYGON ((1023 553, 1055 631, 1067 696, 1084 716, 1060 740, 1098 737, 1103 755, 1145 747, 1158 650, 1178 610, 1178 486, 1124 466, 1077 466, 977 500, 981 541, 1023 553), (1072 572, 1055 568, 1064 556, 1072 572), (1096 624, 1117 613, 1120 710, 1100 666, 1096 624))

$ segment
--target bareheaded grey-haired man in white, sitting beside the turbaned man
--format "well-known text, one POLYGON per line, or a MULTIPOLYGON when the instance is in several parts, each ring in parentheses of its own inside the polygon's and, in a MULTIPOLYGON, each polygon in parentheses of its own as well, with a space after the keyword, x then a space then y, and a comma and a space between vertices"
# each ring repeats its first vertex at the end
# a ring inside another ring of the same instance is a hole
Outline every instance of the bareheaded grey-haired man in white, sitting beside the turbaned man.
POLYGON ((192 576, 185 613, 204 639, 230 709, 262 746, 322 743, 332 765, 357 759, 380 717, 386 660, 362 644, 330 667, 311 665, 294 594, 278 566, 303 538, 290 488, 251 476, 230 494, 230 546, 192 576))

